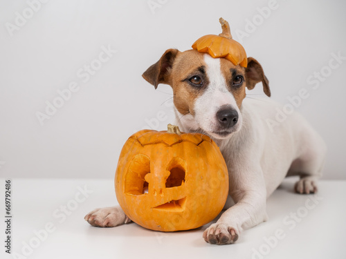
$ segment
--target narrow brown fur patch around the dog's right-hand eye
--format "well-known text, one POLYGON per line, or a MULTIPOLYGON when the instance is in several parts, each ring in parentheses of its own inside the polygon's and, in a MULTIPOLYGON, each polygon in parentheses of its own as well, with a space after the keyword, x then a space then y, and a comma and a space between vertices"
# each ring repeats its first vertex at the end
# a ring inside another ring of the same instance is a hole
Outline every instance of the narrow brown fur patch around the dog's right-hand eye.
POLYGON ((242 66, 235 66, 232 62, 227 59, 220 59, 221 73, 224 75, 228 90, 235 97, 235 102, 237 102, 238 108, 242 106, 243 99, 246 97, 245 92, 245 68, 242 66), (239 81, 239 77, 242 77, 242 84, 234 84, 239 81))

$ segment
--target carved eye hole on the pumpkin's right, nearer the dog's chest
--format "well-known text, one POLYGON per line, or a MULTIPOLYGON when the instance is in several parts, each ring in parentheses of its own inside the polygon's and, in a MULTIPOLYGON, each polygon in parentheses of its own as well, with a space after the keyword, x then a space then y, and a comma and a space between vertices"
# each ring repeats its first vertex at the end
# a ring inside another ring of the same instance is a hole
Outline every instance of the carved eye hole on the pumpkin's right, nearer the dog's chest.
POLYGON ((166 179, 166 188, 181 186, 186 180, 186 161, 180 157, 174 157, 168 165, 170 175, 166 179))

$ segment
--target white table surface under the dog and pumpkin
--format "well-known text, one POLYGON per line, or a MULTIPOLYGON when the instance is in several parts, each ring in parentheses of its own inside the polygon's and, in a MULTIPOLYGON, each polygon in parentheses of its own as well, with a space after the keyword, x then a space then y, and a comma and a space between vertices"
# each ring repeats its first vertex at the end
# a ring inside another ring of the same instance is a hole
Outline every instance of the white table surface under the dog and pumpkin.
POLYGON ((113 180, 12 179, 12 256, 3 247, 4 185, 5 180, 0 179, 0 258, 20 258, 13 253, 23 254, 23 242, 35 244, 34 231, 44 229, 47 222, 55 230, 30 256, 22 258, 346 258, 346 181, 320 181, 318 197, 322 200, 316 199, 318 204, 313 207, 313 195, 293 193, 292 180, 285 180, 268 199, 268 222, 244 231, 236 244, 217 246, 202 238, 208 225, 175 233, 150 231, 135 223, 91 227, 83 219, 86 213, 117 204, 113 180), (84 202, 71 201, 78 186, 85 185, 93 193, 84 202), (66 204, 78 207, 64 220, 61 212, 53 214, 66 204), (298 213, 298 218, 289 218, 290 213, 298 213), (273 240, 270 237, 277 229, 282 229, 284 238, 269 247, 264 238, 273 240), (254 251, 261 248, 267 254, 255 256, 254 251))

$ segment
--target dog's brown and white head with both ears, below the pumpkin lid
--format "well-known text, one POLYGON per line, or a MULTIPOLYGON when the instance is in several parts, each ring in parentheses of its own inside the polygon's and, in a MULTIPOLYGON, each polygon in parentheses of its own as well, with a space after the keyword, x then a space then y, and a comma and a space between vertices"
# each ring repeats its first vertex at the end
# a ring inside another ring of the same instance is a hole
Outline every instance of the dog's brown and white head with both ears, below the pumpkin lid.
POLYGON ((143 77, 155 88, 158 84, 172 86, 174 106, 183 125, 217 139, 229 137, 242 127, 240 107, 246 87, 253 89, 262 81, 264 93, 271 95, 262 66, 252 57, 244 68, 197 50, 170 49, 143 77))

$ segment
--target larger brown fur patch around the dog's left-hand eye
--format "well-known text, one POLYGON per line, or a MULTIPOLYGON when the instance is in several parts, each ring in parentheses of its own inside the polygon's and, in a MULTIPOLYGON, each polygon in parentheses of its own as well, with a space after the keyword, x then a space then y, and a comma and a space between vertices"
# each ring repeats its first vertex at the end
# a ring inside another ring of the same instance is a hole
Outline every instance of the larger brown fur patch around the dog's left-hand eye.
POLYGON ((174 105, 179 113, 194 115, 194 101, 201 96, 209 84, 206 76, 206 64, 203 54, 197 50, 186 50, 181 52, 172 66, 171 86, 173 88, 174 105), (198 76, 203 84, 194 86, 189 79, 198 76))

